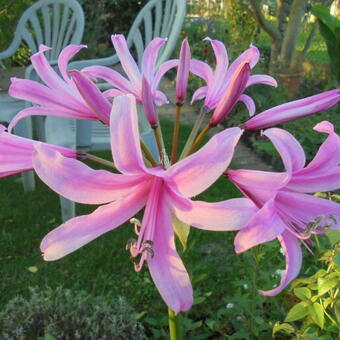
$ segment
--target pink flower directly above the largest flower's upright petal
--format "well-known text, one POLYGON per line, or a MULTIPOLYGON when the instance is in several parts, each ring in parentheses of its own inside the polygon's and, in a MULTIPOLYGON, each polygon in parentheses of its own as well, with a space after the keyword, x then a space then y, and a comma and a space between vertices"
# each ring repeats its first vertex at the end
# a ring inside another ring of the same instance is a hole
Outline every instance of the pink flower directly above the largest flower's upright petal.
MULTIPOLYGON (((120 95, 133 94, 138 103, 142 103, 142 78, 143 76, 151 86, 151 92, 156 105, 163 105, 168 102, 165 94, 157 91, 160 80, 163 75, 171 68, 177 66, 177 60, 169 60, 160 65, 156 72, 156 61, 160 48, 165 44, 166 39, 155 38, 145 48, 141 70, 134 61, 125 37, 122 34, 111 36, 113 46, 116 50, 120 63, 128 76, 127 80, 117 71, 105 66, 89 66, 82 69, 82 72, 92 78, 100 78, 110 83, 120 91, 120 95)), ((107 95, 115 97, 118 95, 117 90, 107 91, 107 95)))

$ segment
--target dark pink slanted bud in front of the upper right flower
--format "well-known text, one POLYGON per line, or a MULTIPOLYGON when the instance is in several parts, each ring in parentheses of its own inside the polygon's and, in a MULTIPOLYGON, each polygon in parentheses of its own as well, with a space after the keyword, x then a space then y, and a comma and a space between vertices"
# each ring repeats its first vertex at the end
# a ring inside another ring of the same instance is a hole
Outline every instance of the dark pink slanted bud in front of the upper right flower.
POLYGON ((246 88, 249 75, 249 62, 243 62, 236 69, 222 99, 217 104, 216 109, 210 118, 211 125, 215 126, 219 124, 233 109, 235 104, 239 101, 244 89, 246 88))

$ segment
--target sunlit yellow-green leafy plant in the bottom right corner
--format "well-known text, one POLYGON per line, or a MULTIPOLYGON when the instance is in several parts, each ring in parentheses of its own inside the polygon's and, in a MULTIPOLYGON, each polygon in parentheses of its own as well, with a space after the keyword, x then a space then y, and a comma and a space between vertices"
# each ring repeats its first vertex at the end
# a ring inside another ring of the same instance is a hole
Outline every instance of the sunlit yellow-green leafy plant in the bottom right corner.
MULTIPOLYGON (((330 240, 331 243, 332 239, 330 240)), ((296 339, 338 339, 340 335, 340 248, 334 244, 331 250, 321 250, 319 261, 325 269, 296 279, 291 290, 297 298, 285 318, 276 323, 276 333, 295 334, 296 339), (298 322, 295 322, 298 321, 298 322), (294 322, 294 324, 291 324, 294 322)), ((294 338, 295 339, 295 338, 294 338)))

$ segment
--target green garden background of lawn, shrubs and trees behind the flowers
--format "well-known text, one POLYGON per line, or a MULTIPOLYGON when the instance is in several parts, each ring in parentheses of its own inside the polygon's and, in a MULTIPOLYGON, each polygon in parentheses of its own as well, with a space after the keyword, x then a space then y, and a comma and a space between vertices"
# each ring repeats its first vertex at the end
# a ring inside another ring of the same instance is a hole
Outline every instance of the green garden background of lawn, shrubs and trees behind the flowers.
MULTIPOLYGON (((17 21, 34 2, 0 0, 0 51, 13 40, 17 21)), ((126 34, 147 1, 79 0, 79 3, 85 12, 83 43, 88 45, 87 50, 79 53, 79 58, 90 59, 112 54, 110 35, 126 34)), ((202 40, 207 36, 225 43, 230 60, 250 44, 256 45, 261 60, 253 73, 271 74, 279 84, 276 89, 257 85, 247 90, 256 102, 258 113, 289 100, 339 87, 339 22, 339 0, 191 0, 187 1, 187 16, 174 57, 184 37, 189 38, 193 57, 210 65, 215 63, 215 57, 210 44, 202 40), (324 7, 318 7, 320 5, 324 7)), ((27 67, 30 54, 22 46, 16 55, 3 61, 0 81, 6 84, 5 74, 27 67)), ((175 73, 170 72, 168 76, 172 81, 175 73)), ((192 76, 191 94, 198 86, 201 86, 200 80, 192 76)), ((194 106, 194 111, 198 110, 199 106, 194 106)), ((239 125, 247 114, 242 105, 237 105, 225 126, 239 125)), ((282 125, 302 143, 309 160, 325 139, 323 134, 312 130, 322 120, 331 121, 340 133, 338 106, 282 125)), ((170 142, 171 121, 162 119, 162 127, 165 139, 170 142)), ((189 133, 190 127, 182 125, 182 145, 189 133)), ((258 133, 248 132, 244 143, 259 159, 278 171, 282 169, 272 145, 258 133)), ((109 152, 100 155, 109 157, 109 152)), ((129 253, 124 250, 126 240, 133 235, 133 226, 126 224, 57 262, 44 262, 39 243, 61 222, 58 197, 41 182, 34 192, 23 193, 21 181, 18 175, 0 182, 0 332, 5 327, 9 334, 3 338, 33 339, 38 334, 41 338, 54 339, 58 337, 53 332, 60 326, 64 333, 59 338, 72 339, 75 325, 90 334, 89 330, 100 324, 102 328, 98 333, 93 331, 93 339, 110 338, 111 334, 116 334, 117 339, 165 339, 166 308, 148 271, 144 269, 136 274, 129 253), (39 295, 44 290, 48 293, 39 295), (82 293, 76 293, 80 291, 82 293), (31 296, 31 302, 26 306, 18 296, 31 296), (15 297, 17 300, 12 300, 15 297), (70 305, 66 301, 71 301, 70 305), (111 307, 111 301, 115 308, 111 307), (44 304, 46 308, 39 309, 44 304), (84 306, 91 306, 89 310, 94 308, 86 318, 82 318, 84 306), (100 306, 102 314, 99 307, 93 306, 100 306), (9 311, 16 313, 15 318, 7 317, 9 311), (56 313, 64 315, 59 326, 60 319, 54 317, 56 313), (44 315, 49 316, 50 328, 41 333, 44 315), (117 319, 112 321, 110 315, 123 316, 117 322, 117 319), (30 337, 23 335, 20 320, 28 325, 30 337), (132 330, 135 333, 129 333, 132 330)), ((220 179, 199 198, 219 201, 235 196, 240 196, 237 189, 226 179, 220 179)), ((329 198, 340 201, 339 193, 330 193, 329 198)), ((77 213, 89 213, 91 209, 77 206, 77 213)), ((258 290, 270 289, 280 281, 284 258, 278 242, 236 255, 233 238, 233 233, 221 236, 192 230, 188 248, 181 251, 195 292, 195 305, 182 317, 187 339, 338 339, 338 233, 314 239, 314 254, 304 250, 300 279, 273 298, 259 295, 258 290), (321 309, 313 309, 315 303, 321 309)), ((178 248, 181 249, 181 245, 178 248)), ((91 338, 79 334, 79 339, 91 338)))

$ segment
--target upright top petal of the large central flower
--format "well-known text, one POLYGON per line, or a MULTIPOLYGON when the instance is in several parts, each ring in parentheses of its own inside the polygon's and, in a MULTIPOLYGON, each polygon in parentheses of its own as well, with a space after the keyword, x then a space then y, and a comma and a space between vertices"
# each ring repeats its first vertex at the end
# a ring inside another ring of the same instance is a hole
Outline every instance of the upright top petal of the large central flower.
POLYGON ((136 99, 131 94, 114 99, 110 131, 112 155, 117 169, 124 174, 145 172, 140 149, 136 99))

